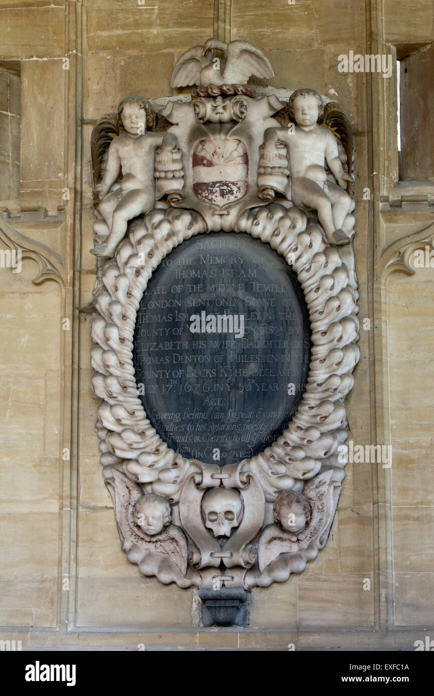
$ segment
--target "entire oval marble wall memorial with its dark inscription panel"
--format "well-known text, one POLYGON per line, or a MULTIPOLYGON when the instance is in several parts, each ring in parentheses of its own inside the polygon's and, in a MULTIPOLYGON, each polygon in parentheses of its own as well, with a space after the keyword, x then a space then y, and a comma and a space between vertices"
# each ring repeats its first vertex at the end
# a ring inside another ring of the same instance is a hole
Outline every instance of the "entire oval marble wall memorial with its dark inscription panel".
POLYGON ((119 95, 91 142, 92 388, 122 548, 216 600, 325 545, 359 358, 350 124, 251 76, 274 76, 259 49, 209 39, 173 70, 191 98, 119 95))

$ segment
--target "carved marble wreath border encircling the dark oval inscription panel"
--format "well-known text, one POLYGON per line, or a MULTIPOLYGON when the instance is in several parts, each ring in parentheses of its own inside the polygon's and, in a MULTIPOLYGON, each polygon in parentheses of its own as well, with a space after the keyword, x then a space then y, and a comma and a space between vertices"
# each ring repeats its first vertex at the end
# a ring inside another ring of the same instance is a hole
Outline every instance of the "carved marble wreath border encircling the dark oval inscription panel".
MULTIPOLYGON (((143 222, 130 224, 116 256, 99 267, 94 290, 91 384, 103 400, 97 422, 101 463, 107 472, 115 466, 141 482, 146 492, 165 496, 171 503, 178 503, 189 474, 215 467, 171 450, 150 425, 134 376, 134 327, 153 270, 178 244, 206 231, 205 222, 192 210, 154 209, 143 222)), ((311 321, 307 386, 295 416, 277 441, 237 467, 239 472, 254 473, 265 500, 272 502, 279 491, 302 490, 304 481, 321 468, 345 466, 343 400, 354 383, 352 370, 359 359, 359 295, 350 284, 339 247, 327 244, 315 223, 297 232, 290 209, 283 205, 245 211, 235 231, 249 232, 284 256, 302 286, 311 321), (343 448, 338 450, 339 445, 343 448)))

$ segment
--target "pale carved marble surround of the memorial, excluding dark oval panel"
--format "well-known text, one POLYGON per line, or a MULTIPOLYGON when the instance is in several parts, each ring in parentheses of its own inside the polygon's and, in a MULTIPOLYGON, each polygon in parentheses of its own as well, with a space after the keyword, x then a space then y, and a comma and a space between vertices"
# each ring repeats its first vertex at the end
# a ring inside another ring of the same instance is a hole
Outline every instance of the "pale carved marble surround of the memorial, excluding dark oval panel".
POLYGON ((344 400, 359 359, 350 124, 313 90, 256 96, 251 75, 274 75, 259 49, 209 39, 173 70, 173 87, 194 86, 191 100, 157 110, 127 97, 92 135, 101 463, 128 560, 180 587, 249 590, 302 572, 327 541, 346 459, 344 400), (219 466, 181 456, 150 425, 132 349, 160 262, 189 237, 232 230, 297 274, 311 361, 284 433, 219 466))

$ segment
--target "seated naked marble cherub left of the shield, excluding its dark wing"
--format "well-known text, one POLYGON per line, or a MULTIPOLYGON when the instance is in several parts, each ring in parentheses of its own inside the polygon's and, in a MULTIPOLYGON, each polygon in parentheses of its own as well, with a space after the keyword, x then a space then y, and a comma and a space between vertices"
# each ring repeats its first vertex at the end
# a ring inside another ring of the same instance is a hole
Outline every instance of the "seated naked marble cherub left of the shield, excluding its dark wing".
POLYGON ((155 148, 161 146, 159 161, 169 166, 176 136, 146 132, 154 118, 155 111, 144 97, 126 97, 118 106, 118 120, 125 132, 111 141, 102 181, 94 189, 100 196, 98 210, 110 230, 104 244, 91 249, 96 256, 113 256, 125 236, 128 221, 149 212, 155 204, 155 148), (109 192, 121 173, 120 187, 109 192))

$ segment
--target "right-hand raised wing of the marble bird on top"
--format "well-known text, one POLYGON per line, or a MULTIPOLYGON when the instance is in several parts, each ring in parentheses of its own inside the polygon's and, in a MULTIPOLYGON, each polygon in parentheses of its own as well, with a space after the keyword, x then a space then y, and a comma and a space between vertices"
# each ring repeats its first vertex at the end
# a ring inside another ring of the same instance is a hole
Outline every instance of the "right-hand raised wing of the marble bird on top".
POLYGON ((245 84, 251 75, 272 79, 274 70, 262 51, 247 41, 231 41, 226 47, 225 84, 245 84))

